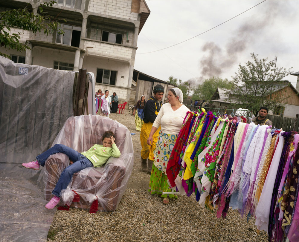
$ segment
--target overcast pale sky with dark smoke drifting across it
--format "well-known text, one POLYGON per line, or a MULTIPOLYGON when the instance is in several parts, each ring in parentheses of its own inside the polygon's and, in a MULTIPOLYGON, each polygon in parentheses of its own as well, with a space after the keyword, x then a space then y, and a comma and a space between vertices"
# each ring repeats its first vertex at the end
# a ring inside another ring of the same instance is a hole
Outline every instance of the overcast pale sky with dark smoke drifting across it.
MULTIPOLYGON (((299 71, 299 1, 149 0, 151 11, 138 36, 134 68, 161 80, 183 81, 219 76, 231 79, 238 64, 258 58, 275 59, 277 67, 299 71), (174 47, 153 52, 175 45, 174 47)), ((297 76, 285 79, 296 85, 297 76)))

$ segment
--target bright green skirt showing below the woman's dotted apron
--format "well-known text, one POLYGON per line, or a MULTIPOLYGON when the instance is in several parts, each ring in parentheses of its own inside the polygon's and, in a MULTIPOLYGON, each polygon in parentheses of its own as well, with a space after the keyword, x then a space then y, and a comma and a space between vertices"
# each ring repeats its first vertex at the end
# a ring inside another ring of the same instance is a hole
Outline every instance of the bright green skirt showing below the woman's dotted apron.
POLYGON ((167 195, 170 198, 178 198, 176 194, 163 194, 162 192, 172 192, 168 185, 168 178, 167 175, 165 175, 162 171, 159 171, 155 165, 152 165, 152 173, 150 175, 149 179, 149 192, 150 194, 158 194, 161 195, 161 197, 167 197, 167 195))

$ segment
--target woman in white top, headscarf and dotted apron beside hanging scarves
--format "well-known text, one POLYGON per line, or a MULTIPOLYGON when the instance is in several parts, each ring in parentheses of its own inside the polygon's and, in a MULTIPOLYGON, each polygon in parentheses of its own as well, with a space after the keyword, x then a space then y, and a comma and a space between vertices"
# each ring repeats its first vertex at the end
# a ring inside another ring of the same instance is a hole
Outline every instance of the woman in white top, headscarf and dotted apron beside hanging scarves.
MULTIPOLYGON (((147 139, 147 143, 151 145, 152 136, 161 125, 161 133, 156 143, 157 147, 154 151, 154 157, 150 159, 154 160, 154 163, 149 181, 149 192, 164 197, 164 204, 169 203, 169 198, 167 194, 162 194, 162 192, 171 192, 166 175, 168 159, 176 143, 176 138, 178 137, 186 113, 190 111, 189 108, 182 104, 183 92, 179 88, 171 88, 168 91, 167 100, 168 103, 162 105, 147 139)), ((177 198, 174 194, 169 194, 169 197, 177 198)))

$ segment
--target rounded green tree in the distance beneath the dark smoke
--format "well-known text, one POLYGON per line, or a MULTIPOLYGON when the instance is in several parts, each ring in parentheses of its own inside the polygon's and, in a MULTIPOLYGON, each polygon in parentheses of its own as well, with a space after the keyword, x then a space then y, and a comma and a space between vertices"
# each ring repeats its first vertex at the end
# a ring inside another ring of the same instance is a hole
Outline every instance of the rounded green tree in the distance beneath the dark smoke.
POLYGON ((215 93, 217 87, 231 89, 233 84, 228 79, 222 79, 220 77, 211 77, 205 79, 201 84, 194 87, 192 99, 193 100, 210 100, 215 93))

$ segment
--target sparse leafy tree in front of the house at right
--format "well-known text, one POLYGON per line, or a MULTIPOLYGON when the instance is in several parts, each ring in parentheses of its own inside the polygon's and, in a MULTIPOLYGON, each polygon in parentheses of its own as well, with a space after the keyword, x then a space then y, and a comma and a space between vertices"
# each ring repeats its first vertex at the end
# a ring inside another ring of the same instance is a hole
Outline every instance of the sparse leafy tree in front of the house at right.
POLYGON ((283 101, 289 96, 275 93, 286 85, 287 81, 282 81, 291 69, 275 68, 275 60, 258 59, 257 54, 251 53, 253 61, 248 61, 245 65, 239 63, 238 72, 233 77, 234 90, 229 94, 229 100, 235 107, 242 107, 252 110, 255 114, 261 106, 266 106, 269 110, 283 106, 283 101))

